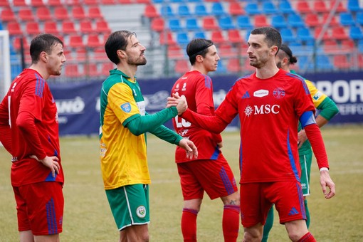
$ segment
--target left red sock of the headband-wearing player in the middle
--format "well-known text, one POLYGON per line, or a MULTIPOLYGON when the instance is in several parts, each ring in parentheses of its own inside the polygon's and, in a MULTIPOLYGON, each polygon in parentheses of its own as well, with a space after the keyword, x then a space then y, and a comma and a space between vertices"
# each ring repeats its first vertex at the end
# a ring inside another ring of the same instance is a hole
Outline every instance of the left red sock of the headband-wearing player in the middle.
POLYGON ((181 233, 184 242, 196 242, 196 216, 198 211, 194 209, 183 209, 181 214, 181 233))

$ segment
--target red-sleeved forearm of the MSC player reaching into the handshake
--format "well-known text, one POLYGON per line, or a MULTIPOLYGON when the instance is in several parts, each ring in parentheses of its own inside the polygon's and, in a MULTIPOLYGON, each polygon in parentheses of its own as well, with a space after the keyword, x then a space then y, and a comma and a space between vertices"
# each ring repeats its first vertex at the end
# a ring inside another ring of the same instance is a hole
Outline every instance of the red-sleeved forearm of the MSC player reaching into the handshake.
POLYGON ((181 117, 195 125, 198 125, 204 130, 209 130, 216 134, 221 133, 228 125, 228 123, 224 122, 219 116, 200 115, 199 113, 193 112, 189 109, 187 109, 181 117))

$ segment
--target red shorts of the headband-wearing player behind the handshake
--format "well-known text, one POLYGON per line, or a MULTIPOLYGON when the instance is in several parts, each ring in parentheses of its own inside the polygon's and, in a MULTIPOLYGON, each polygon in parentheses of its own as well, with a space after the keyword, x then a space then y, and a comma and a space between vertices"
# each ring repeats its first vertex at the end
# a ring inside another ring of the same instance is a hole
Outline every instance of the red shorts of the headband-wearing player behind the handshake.
POLYGON ((238 191, 231 167, 220 155, 216 160, 202 159, 177 163, 184 200, 228 196, 238 191))

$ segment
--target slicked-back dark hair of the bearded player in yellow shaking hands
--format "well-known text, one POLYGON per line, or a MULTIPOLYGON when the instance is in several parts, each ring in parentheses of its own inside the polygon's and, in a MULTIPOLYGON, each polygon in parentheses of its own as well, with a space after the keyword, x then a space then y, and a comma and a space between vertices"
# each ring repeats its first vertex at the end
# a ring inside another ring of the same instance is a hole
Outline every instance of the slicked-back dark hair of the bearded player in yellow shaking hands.
POLYGON ((117 56, 117 51, 126 50, 128 44, 127 38, 132 35, 136 36, 136 33, 131 31, 115 31, 111 33, 110 36, 108 36, 105 43, 105 51, 110 61, 112 61, 116 65, 120 63, 120 58, 118 58, 117 56))

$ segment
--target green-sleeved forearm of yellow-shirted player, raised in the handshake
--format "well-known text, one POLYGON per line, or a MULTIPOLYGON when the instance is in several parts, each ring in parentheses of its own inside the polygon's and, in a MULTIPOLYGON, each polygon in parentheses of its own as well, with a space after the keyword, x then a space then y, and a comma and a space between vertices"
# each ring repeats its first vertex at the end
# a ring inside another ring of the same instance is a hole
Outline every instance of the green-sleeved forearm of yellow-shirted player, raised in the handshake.
POLYGON ((167 120, 170 120, 177 115, 178 110, 176 107, 168 107, 152 115, 140 115, 128 122, 126 126, 133 135, 138 136, 156 129, 164 124, 164 122, 167 122, 167 120))

